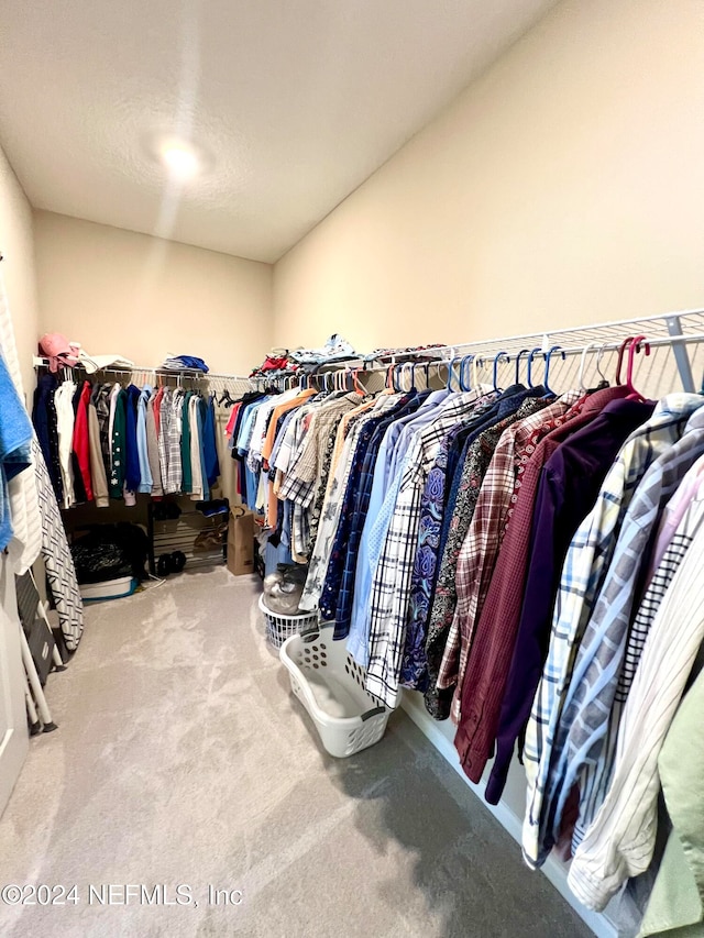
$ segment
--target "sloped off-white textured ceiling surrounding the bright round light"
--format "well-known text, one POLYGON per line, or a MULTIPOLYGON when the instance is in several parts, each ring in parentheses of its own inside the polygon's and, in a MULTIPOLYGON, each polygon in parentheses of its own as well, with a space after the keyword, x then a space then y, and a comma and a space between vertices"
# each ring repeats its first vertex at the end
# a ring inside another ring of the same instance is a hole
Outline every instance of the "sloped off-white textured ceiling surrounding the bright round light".
POLYGON ((0 142, 36 208, 273 262, 553 4, 2 0, 0 142))

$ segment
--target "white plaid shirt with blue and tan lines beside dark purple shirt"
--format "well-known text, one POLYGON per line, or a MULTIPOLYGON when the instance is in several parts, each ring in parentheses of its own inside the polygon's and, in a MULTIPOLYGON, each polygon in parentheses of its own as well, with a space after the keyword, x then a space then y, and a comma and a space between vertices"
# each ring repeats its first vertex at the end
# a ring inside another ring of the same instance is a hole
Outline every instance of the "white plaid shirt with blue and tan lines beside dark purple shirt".
POLYGON ((668 395, 658 404, 651 419, 622 448, 596 505, 570 544, 552 618, 548 659, 526 729, 528 807, 522 848, 530 867, 541 865, 552 847, 543 798, 554 764, 556 730, 576 649, 613 556, 624 516, 648 467, 681 435, 688 418, 700 405, 701 398, 694 394, 668 395))

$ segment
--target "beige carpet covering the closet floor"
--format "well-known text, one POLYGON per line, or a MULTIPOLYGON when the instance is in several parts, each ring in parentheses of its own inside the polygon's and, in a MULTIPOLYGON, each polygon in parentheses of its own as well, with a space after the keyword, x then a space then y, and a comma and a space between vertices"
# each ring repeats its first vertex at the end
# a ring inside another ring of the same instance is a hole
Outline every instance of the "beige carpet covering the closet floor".
POLYGON ((0 935, 591 934, 403 714, 373 749, 323 752, 256 596, 221 569, 88 609, 50 677, 59 728, 0 820, 0 884, 76 884, 78 904, 0 905, 0 935), (100 906, 108 884, 194 904, 100 906), (209 905, 209 885, 241 903, 209 905))

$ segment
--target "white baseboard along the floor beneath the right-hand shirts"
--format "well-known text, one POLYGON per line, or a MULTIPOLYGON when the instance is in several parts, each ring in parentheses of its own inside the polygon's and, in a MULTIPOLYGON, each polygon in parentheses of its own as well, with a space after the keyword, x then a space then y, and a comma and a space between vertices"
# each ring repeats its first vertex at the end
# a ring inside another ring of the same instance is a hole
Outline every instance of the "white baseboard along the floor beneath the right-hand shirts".
MULTIPOLYGON (((486 810, 491 812, 496 820, 498 820, 498 823, 510 834, 510 836, 520 843, 522 818, 512 810, 512 808, 504 802, 499 802, 497 805, 490 805, 484 801, 482 797, 483 787, 481 785, 474 785, 466 777, 460 766, 454 746, 442 731, 442 725, 433 720, 428 714, 422 705, 420 695, 414 693, 404 694, 402 707, 416 724, 422 735, 427 737, 438 752, 440 752, 450 765, 452 765, 455 772, 459 773, 460 777, 466 782, 486 810)), ((588 928, 591 928, 598 938, 618 938, 618 929, 607 915, 585 908, 573 895, 572 891, 568 886, 566 867, 563 863, 550 857, 542 867, 542 873, 548 878, 565 902, 568 902, 578 913, 584 924, 588 926, 588 928)))

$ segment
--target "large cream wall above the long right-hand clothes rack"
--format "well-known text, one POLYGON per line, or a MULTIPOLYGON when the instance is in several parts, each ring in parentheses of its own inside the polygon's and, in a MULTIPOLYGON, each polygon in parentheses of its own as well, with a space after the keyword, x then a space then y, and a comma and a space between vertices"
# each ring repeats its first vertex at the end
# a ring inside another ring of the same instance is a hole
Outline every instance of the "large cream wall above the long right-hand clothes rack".
POLYGON ((565 0, 277 263, 275 342, 702 305, 703 153, 701 0, 565 0))

